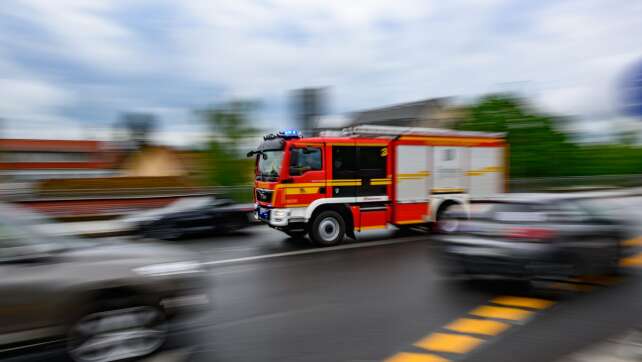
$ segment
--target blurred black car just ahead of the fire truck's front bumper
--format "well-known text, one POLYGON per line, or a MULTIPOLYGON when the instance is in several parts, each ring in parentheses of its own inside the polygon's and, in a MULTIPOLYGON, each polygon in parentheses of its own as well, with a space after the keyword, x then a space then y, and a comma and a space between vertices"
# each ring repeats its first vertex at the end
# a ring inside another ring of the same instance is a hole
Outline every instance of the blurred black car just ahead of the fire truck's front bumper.
POLYGON ((215 197, 186 197, 165 207, 134 213, 121 219, 138 234, 174 240, 188 235, 231 232, 250 225, 254 205, 240 205, 215 197))

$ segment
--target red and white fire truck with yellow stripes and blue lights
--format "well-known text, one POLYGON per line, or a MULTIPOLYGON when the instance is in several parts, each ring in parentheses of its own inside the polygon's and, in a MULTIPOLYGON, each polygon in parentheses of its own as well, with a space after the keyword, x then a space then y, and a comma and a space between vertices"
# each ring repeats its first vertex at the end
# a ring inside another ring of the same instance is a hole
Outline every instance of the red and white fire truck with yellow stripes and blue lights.
POLYGON ((261 221, 331 246, 364 230, 440 225, 449 207, 505 191, 503 134, 387 126, 335 133, 279 132, 248 153, 261 221))

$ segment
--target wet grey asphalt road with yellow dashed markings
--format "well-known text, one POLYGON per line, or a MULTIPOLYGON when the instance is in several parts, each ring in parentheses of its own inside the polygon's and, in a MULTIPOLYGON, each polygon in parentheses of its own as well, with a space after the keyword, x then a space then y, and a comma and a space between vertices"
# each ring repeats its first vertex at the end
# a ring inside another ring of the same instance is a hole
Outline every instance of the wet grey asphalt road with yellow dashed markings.
MULTIPOLYGON (((642 198, 609 205, 640 221, 642 235, 642 198)), ((608 280, 471 284, 439 273, 430 235, 360 239, 316 249, 256 226, 173 242, 209 262, 214 308, 182 336, 189 343, 153 360, 550 361, 642 325, 637 268, 608 280), (502 328, 454 332, 507 310, 502 328)))

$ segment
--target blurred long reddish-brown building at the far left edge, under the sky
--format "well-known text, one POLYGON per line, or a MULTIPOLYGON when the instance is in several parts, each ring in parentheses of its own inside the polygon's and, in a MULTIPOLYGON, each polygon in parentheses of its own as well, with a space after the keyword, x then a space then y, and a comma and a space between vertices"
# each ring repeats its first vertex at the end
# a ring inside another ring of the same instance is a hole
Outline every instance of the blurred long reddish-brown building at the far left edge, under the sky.
POLYGON ((5 180, 109 176, 113 165, 113 154, 101 141, 0 139, 5 180))

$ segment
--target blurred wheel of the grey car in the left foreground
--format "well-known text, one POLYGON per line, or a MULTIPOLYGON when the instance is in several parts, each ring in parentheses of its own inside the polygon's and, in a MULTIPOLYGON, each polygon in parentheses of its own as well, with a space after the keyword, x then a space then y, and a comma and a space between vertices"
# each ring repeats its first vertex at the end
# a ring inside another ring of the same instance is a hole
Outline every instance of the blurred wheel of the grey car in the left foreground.
POLYGON ((166 338, 167 323, 158 307, 102 308, 73 323, 67 352, 77 362, 138 359, 158 351, 166 338))

